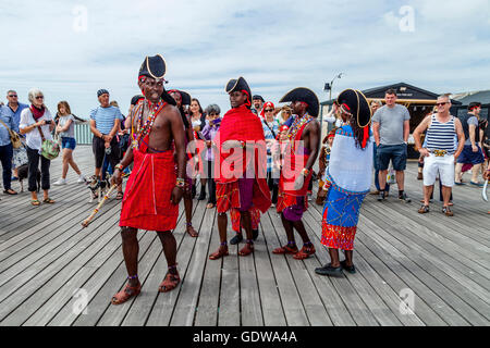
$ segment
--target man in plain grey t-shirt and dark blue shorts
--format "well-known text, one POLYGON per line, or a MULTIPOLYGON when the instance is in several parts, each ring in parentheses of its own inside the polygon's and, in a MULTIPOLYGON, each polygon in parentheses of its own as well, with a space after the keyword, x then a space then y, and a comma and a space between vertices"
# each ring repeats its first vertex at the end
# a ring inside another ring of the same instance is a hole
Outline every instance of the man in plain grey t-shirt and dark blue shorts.
POLYGON ((390 161, 396 172, 399 199, 411 202, 404 191, 405 167, 407 157, 407 141, 411 132, 411 115, 404 105, 396 104, 396 90, 390 88, 384 95, 387 104, 379 108, 372 116, 372 132, 377 146, 377 161, 379 167, 379 197, 385 198, 387 174, 390 161))

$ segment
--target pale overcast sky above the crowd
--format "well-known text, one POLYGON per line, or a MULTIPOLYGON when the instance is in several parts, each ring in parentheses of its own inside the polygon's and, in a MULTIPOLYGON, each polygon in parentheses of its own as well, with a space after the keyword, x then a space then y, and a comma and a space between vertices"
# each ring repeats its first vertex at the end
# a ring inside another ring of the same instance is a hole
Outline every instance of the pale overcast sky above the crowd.
POLYGON ((167 60, 170 88, 230 107, 244 76, 274 103, 294 87, 328 99, 405 82, 434 92, 490 89, 489 0, 0 1, 0 99, 38 87, 56 111, 88 117, 107 88, 126 113, 145 55, 167 60))

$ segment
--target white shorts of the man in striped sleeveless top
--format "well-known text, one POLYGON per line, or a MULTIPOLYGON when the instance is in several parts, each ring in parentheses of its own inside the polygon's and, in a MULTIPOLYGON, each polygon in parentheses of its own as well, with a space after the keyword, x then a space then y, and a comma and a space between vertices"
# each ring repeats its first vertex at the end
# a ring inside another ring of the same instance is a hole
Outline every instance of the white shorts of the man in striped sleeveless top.
POLYGON ((424 159, 424 186, 436 184, 438 174, 443 186, 454 186, 454 154, 437 157, 429 153, 429 157, 424 159))

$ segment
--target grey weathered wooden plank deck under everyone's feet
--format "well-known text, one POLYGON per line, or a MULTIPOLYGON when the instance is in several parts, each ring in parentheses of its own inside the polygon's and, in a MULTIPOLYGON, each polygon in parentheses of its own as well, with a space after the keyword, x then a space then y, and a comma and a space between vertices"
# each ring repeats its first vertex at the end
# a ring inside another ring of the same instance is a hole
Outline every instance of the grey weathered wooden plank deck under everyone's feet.
MULTIPOLYGON (((74 156, 83 172, 91 174, 90 148, 79 146, 74 156)), ((51 163, 52 182, 60 165, 60 159, 51 163)), ((89 190, 75 184, 70 171, 70 184, 50 190, 53 206, 32 207, 28 192, 1 196, 0 325, 489 325, 490 207, 479 189, 463 186, 454 188, 454 217, 441 213, 438 200, 429 214, 420 215, 421 182, 415 177, 416 163, 411 162, 406 191, 412 203, 399 201, 394 190, 382 203, 375 196, 366 198, 355 241, 355 275, 315 274, 329 258, 319 241, 322 207, 314 202, 304 222, 317 248, 315 257, 296 261, 271 253, 286 239, 270 209, 262 215, 252 257, 238 258, 238 248, 232 246, 230 257, 210 261, 208 254, 219 246, 216 211, 195 200, 193 223, 199 237, 184 233, 182 204, 174 232, 181 285, 158 293, 164 254, 154 232, 140 232, 143 291, 112 306, 110 298, 126 276, 120 204, 109 201, 82 229, 95 203, 88 203, 89 190), (401 310, 405 291, 414 294, 412 314, 401 310)))

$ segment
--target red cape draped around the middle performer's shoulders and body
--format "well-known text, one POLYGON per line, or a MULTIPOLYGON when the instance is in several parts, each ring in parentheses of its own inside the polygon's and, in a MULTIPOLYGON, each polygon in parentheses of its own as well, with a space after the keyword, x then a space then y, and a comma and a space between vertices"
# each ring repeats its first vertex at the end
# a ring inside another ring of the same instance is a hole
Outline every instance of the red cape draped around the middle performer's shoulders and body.
MULTIPOLYGON (((233 108, 224 114, 221 121, 220 130, 215 138, 219 151, 219 161, 216 165, 215 176, 216 182, 219 184, 229 184, 236 182, 238 178, 245 177, 245 172, 247 171, 247 159, 246 156, 244 156, 243 172, 240 175, 233 175, 231 177, 224 177, 223 175, 221 175, 221 163, 234 152, 234 150, 223 152, 222 145, 226 140, 262 141, 265 145, 266 139, 264 137, 262 123, 260 122, 259 117, 257 117, 257 115, 255 115, 246 105, 233 108)), ((270 191, 269 187, 267 186, 266 175, 260 175, 264 177, 259 177, 258 173, 259 170, 260 172, 266 173, 267 162, 260 163, 260 158, 267 157, 260 156, 258 152, 259 151, 256 149, 254 173, 255 179, 258 185, 254 185, 253 203, 262 213, 265 213, 271 204, 270 191)))

